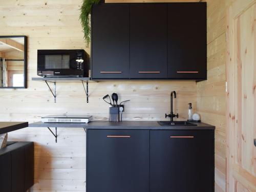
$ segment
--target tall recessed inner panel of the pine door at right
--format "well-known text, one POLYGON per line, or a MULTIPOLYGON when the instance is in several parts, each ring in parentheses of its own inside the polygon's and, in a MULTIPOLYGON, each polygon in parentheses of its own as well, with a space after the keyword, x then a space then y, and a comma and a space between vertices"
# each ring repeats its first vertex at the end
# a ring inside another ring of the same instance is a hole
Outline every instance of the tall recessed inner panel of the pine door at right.
POLYGON ((256 65, 254 54, 255 54, 255 35, 253 28, 256 19, 256 5, 251 6, 237 19, 235 25, 237 25, 238 40, 240 41, 240 48, 238 50, 240 55, 239 68, 238 68, 238 133, 239 143, 241 145, 238 153, 238 160, 241 162, 242 167, 248 172, 255 175, 256 173, 256 162, 253 159, 253 151, 256 149, 253 145, 253 126, 256 125, 256 65), (240 39, 239 39, 240 37, 240 39), (241 102, 242 101, 242 102, 241 102), (241 158, 241 159, 240 159, 241 158), (254 161, 254 162, 253 162, 254 161))

